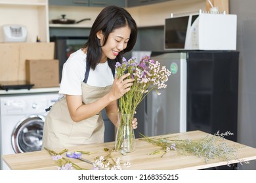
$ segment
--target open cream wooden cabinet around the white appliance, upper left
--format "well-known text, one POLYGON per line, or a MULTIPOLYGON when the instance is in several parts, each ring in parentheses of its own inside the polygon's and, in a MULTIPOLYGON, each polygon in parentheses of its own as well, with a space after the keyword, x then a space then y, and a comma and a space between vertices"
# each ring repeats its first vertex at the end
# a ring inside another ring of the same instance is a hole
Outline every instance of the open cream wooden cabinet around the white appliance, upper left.
POLYGON ((28 30, 27 42, 36 42, 37 36, 42 42, 49 42, 48 0, 0 0, 0 12, 0 27, 24 25, 28 30))

